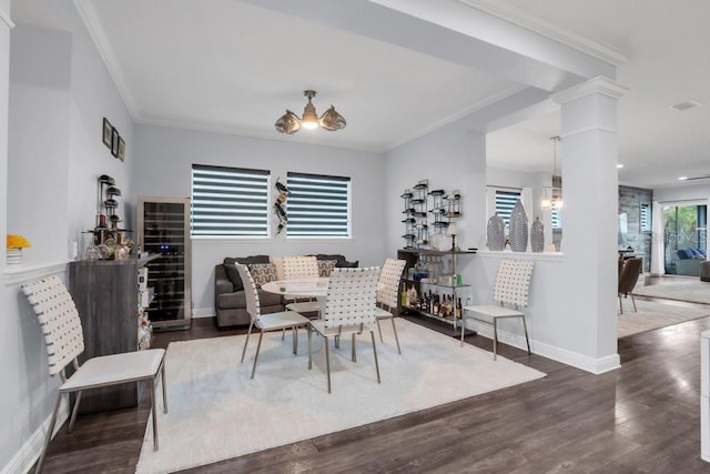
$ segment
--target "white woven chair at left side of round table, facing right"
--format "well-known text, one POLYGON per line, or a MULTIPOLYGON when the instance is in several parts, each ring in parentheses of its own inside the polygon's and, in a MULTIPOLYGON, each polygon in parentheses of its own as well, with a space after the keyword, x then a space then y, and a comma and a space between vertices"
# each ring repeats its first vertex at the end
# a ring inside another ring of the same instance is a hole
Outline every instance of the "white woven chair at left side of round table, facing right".
POLYGON ((298 352, 298 327, 306 327, 308 325, 308 319, 295 311, 281 311, 277 313, 261 313, 261 305, 258 304, 258 292, 256 291, 256 284, 252 274, 248 272, 246 265, 240 263, 234 264, 236 271, 240 273, 240 278, 244 283, 244 297, 246 299, 246 312, 251 316, 248 323, 248 331, 246 333, 246 340, 244 341, 244 349, 242 350, 242 360, 244 362, 244 355, 246 354, 246 346, 248 344, 248 336, 252 334, 252 329, 260 330, 258 343, 256 344, 256 354, 254 354, 254 365, 252 366, 252 379, 256 373, 256 362, 258 361, 258 351, 262 347, 262 339, 265 332, 270 331, 285 331, 292 330, 293 332, 293 353, 298 352))

